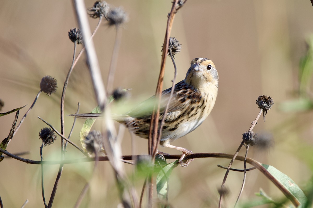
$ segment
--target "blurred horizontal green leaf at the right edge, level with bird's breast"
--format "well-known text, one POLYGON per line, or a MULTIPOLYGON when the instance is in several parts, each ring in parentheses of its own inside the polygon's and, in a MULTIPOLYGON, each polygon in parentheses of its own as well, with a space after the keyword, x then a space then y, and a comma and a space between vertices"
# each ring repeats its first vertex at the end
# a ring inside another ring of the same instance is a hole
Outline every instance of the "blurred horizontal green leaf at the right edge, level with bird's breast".
POLYGON ((313 109, 313 102, 309 98, 285 101, 279 104, 279 109, 284 112, 301 112, 313 109))

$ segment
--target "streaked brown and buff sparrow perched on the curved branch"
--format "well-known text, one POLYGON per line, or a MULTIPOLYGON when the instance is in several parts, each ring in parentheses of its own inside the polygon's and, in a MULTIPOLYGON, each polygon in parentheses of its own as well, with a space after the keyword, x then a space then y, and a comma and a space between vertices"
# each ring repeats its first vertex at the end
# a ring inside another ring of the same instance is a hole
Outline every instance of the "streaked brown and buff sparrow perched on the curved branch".
MULTIPOLYGON (((178 162, 181 166, 187 166, 192 160, 187 162, 182 160, 186 154, 192 154, 192 151, 170 143, 195 130, 211 113, 218 94, 218 72, 212 60, 195 58, 191 61, 186 78, 175 85, 168 111, 164 115, 171 90, 172 87, 163 90, 160 100, 159 125, 165 116, 160 145, 182 151, 182 157, 178 162)), ((125 115, 112 117, 117 122, 125 124, 137 136, 147 139, 153 110, 151 103, 154 103, 155 99, 154 95, 125 115)), ((101 114, 70 116, 95 119, 100 118, 101 114)))

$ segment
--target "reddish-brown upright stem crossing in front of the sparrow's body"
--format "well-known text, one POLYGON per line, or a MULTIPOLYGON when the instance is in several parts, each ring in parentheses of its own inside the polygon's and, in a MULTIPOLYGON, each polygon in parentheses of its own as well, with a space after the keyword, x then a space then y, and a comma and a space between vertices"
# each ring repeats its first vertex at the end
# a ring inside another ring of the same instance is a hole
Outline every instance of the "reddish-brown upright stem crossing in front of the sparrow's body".
MULTIPOLYGON (((163 52, 162 52, 162 59, 161 59, 161 68, 160 68, 160 74, 159 79, 157 82, 156 87, 156 99, 157 104, 155 105, 152 115, 151 115, 151 123, 149 128, 149 137, 148 137, 148 152, 152 157, 152 162, 154 162, 154 155, 156 154, 157 145, 159 143, 157 138, 157 132, 158 132, 158 123, 159 123, 159 114, 160 114, 160 100, 162 95, 162 87, 163 87, 163 78, 164 78, 164 72, 165 72, 165 62, 167 57, 167 51, 168 51, 168 41, 170 38, 172 25, 175 17, 175 13, 177 12, 176 6, 177 6, 178 0, 173 1, 171 12, 167 18, 167 26, 166 26, 166 32, 163 42, 163 52)), ((152 193, 153 193, 153 178, 149 177, 148 179, 148 185, 149 185, 149 195, 148 195, 148 207, 152 207, 152 193)))

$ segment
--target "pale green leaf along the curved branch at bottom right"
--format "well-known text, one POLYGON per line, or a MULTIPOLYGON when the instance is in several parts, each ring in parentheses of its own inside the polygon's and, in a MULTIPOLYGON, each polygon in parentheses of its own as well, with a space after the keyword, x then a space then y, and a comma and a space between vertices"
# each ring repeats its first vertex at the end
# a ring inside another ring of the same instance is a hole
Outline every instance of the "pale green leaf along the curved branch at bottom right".
POLYGON ((275 177, 283 186, 285 186, 289 192, 295 196, 295 198, 301 203, 304 204, 307 201, 307 198, 303 191, 299 188, 297 184, 290 177, 284 173, 277 170, 275 167, 270 165, 262 164, 262 166, 273 176, 275 177))

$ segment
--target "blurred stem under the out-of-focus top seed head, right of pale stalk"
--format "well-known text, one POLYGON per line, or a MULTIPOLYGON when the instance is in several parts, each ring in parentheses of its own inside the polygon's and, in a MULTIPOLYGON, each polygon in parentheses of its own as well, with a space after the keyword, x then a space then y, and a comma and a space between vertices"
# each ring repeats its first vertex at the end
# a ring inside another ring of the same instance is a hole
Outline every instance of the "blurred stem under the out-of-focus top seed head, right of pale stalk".
POLYGON ((122 28, 119 25, 116 25, 116 34, 115 34, 115 43, 113 47, 111 62, 110 62, 110 68, 109 68, 109 75, 108 75, 108 81, 106 85, 107 94, 110 94, 113 89, 113 81, 114 81, 114 74, 115 69, 117 65, 117 57, 118 57, 118 51, 121 45, 121 38, 122 38, 122 28))

